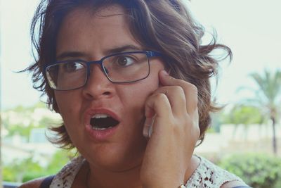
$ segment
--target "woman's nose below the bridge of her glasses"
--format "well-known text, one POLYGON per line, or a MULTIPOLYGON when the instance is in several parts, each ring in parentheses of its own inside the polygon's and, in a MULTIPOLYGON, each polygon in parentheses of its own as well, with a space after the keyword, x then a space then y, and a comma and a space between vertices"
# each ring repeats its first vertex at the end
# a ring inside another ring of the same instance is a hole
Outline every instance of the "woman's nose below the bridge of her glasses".
POLYGON ((115 94, 115 86, 107 79, 100 65, 91 65, 90 72, 83 88, 83 96, 89 100, 112 97, 115 94))

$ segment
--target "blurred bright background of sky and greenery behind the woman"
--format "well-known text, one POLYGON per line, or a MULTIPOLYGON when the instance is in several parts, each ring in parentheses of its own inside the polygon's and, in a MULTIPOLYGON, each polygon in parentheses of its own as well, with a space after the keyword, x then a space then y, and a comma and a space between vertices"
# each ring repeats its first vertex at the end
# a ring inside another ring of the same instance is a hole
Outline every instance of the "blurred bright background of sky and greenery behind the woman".
MULTIPOLYGON (((58 114, 32 88, 30 75, 15 73, 33 62, 30 20, 38 0, 0 0, 0 187, 51 175, 72 152, 49 144, 46 127, 58 114), (43 101, 43 102, 42 102, 43 101)), ((281 1, 187 2, 206 27, 233 50, 221 62, 213 96, 225 106, 195 153, 242 177, 252 187, 281 187, 281 1)))

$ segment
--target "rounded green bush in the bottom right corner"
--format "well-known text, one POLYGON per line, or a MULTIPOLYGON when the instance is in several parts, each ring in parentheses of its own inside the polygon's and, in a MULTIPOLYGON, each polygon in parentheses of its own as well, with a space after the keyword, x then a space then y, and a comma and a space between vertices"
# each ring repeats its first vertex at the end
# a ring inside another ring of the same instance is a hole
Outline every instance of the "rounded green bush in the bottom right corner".
POLYGON ((223 158, 218 165, 241 177, 251 187, 280 188, 281 158, 261 153, 244 153, 223 158))

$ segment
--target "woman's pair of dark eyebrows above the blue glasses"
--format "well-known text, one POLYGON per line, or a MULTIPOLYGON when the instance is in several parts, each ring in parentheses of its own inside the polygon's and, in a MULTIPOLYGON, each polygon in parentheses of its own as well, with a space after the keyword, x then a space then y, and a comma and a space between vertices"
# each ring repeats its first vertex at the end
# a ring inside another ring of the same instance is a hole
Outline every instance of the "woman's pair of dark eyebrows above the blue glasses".
MULTIPOLYGON (((141 49, 138 46, 124 45, 124 46, 113 47, 112 49, 105 50, 105 56, 108 56, 110 54, 117 54, 124 51, 141 51, 141 50, 143 49, 141 49)), ((65 51, 59 54, 56 58, 57 59, 66 58, 66 57, 77 58, 82 56, 87 56, 87 54, 80 51, 65 51)))

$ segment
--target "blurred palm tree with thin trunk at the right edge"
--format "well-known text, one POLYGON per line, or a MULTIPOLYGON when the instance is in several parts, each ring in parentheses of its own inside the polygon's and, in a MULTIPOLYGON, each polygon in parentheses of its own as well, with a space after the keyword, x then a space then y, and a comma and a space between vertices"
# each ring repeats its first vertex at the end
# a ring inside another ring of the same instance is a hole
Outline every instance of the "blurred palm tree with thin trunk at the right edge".
POLYGON ((268 116, 273 127, 273 152, 277 153, 276 123, 278 112, 281 108, 281 70, 270 73, 264 70, 263 74, 251 73, 250 77, 256 82, 258 89, 254 92, 255 99, 251 99, 251 104, 258 106, 263 114, 268 116), (254 103, 253 103, 254 102, 254 103))

